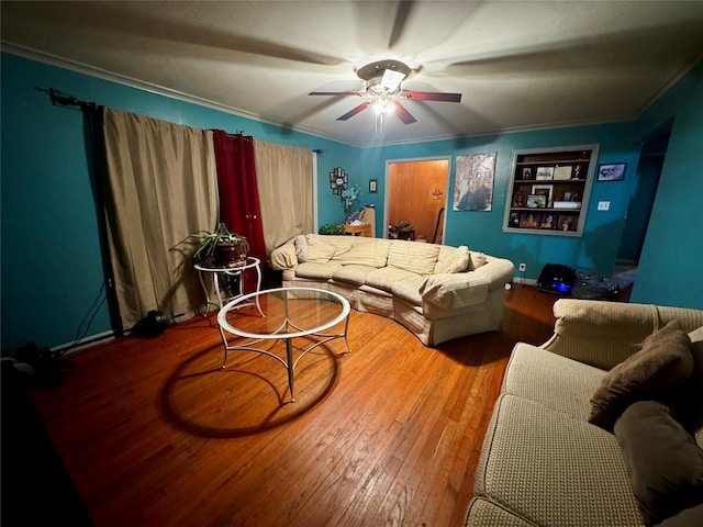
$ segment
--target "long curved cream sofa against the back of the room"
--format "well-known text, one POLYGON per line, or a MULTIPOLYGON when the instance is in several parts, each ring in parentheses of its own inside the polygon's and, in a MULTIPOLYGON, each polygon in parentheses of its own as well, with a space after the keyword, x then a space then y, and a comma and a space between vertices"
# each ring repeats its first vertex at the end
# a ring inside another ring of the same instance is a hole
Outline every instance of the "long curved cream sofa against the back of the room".
POLYGON ((425 346, 491 332, 503 317, 513 262, 467 247, 358 236, 300 235, 275 249, 283 287, 345 296, 352 307, 393 318, 425 346))

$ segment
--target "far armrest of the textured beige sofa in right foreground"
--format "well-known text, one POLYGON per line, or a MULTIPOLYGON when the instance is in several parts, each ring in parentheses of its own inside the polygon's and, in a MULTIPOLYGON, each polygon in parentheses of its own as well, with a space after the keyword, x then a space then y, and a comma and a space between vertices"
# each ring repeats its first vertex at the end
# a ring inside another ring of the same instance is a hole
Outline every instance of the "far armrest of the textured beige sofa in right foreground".
POLYGON ((610 370, 655 330, 678 319, 684 332, 703 325, 703 311, 596 300, 559 299, 554 335, 542 345, 555 354, 610 370))

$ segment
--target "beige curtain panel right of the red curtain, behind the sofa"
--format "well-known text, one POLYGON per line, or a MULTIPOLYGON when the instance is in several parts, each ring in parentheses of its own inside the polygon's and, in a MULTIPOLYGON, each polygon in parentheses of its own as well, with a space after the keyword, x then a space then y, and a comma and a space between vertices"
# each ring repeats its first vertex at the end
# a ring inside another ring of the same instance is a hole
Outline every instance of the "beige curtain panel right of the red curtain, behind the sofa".
POLYGON ((314 228, 314 153, 254 142, 266 254, 314 228))

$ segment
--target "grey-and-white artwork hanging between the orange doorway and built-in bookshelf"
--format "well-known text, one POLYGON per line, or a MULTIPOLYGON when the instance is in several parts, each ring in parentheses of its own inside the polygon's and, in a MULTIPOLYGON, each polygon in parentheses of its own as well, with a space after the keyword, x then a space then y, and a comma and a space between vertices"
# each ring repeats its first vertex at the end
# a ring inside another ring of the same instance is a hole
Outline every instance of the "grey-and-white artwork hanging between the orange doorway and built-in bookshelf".
POLYGON ((454 184, 455 211, 491 211, 495 154, 457 156, 454 184))

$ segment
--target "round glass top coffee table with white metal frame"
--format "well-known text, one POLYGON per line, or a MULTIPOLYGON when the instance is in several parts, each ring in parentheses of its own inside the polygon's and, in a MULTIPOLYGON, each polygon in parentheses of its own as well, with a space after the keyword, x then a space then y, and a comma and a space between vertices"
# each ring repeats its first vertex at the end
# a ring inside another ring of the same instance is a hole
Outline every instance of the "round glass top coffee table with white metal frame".
POLYGON ((347 352, 350 351, 347 339, 349 302, 332 291, 313 288, 278 288, 245 294, 220 310, 217 324, 224 345, 222 368, 226 366, 228 351, 255 351, 272 357, 288 370, 291 403, 295 401, 293 396, 295 366, 309 351, 335 338, 344 338, 347 352), (258 312, 255 307, 258 307, 258 312), (337 333, 328 333, 334 326, 342 324, 344 324, 344 332, 339 333, 342 329, 339 328, 337 333), (297 337, 316 338, 294 358, 292 339, 297 337), (275 346, 271 346, 270 341, 277 339, 286 344, 284 358, 274 351, 275 346), (231 344, 231 340, 236 343, 231 344), (259 347, 264 345, 267 345, 267 349, 259 347))

